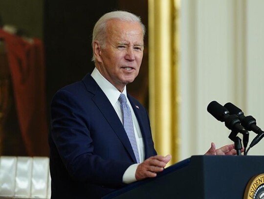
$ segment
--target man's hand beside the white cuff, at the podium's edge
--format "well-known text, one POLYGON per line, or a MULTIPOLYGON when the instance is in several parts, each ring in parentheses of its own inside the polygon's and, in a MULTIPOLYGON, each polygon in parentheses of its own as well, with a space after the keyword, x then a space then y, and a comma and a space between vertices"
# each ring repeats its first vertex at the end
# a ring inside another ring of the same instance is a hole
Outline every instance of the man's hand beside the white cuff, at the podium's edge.
POLYGON ((155 155, 149 157, 138 165, 135 173, 136 180, 142 180, 147 177, 156 177, 158 172, 162 172, 166 164, 172 159, 172 155, 155 155))

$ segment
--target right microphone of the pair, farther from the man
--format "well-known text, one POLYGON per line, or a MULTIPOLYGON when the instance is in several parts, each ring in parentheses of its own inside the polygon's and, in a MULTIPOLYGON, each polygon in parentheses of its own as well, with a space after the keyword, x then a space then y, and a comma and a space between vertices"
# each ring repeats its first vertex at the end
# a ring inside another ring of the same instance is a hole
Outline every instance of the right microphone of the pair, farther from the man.
POLYGON ((252 117, 251 115, 244 116, 243 111, 237 106, 233 105, 231 102, 226 103, 224 107, 227 108, 231 114, 236 114, 239 116, 241 124, 245 127, 247 131, 253 131, 254 133, 258 134, 250 143, 250 148, 255 146, 264 137, 264 132, 261 130, 260 127, 257 126, 257 122, 254 117, 252 117))

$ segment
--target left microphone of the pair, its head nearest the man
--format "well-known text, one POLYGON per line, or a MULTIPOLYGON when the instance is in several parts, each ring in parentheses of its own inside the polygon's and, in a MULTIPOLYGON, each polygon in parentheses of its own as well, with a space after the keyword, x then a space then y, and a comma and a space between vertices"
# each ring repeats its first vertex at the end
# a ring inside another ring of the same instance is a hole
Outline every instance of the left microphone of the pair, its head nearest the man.
POLYGON ((242 134, 248 133, 240 124, 240 119, 238 115, 229 114, 229 111, 225 107, 220 105, 218 102, 210 102, 207 107, 207 111, 220 122, 224 122, 225 126, 231 131, 239 132, 242 134))

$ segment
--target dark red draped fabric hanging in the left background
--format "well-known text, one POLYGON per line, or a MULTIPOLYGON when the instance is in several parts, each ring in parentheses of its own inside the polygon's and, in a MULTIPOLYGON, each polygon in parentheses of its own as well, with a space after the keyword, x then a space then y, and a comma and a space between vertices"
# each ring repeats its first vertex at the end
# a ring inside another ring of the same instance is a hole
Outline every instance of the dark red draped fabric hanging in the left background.
POLYGON ((0 39, 4 41, 7 51, 18 122, 27 153, 29 156, 47 156, 48 128, 42 41, 32 39, 29 42, 2 29, 0 39))

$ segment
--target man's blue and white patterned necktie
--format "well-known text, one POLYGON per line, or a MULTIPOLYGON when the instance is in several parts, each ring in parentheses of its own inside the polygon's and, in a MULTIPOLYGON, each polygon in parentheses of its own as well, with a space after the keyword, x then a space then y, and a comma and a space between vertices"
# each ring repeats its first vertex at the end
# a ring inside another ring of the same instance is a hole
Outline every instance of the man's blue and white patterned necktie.
POLYGON ((126 95, 121 93, 118 101, 120 102, 120 108, 123 113, 123 126, 128 135, 129 141, 131 143, 135 158, 137 163, 140 163, 139 153, 136 145, 135 133, 134 133, 134 125, 132 120, 131 110, 127 103, 126 95))

